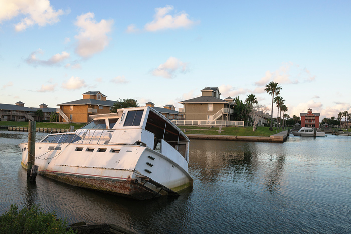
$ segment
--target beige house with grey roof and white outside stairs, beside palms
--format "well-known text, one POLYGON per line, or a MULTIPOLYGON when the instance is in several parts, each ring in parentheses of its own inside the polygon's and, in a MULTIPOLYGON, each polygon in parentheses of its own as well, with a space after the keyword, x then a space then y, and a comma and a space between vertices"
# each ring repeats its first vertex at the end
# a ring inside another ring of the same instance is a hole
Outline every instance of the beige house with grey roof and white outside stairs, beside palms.
POLYGON ((232 120, 234 100, 231 97, 221 99, 218 87, 206 87, 201 90, 201 96, 179 103, 179 113, 184 114, 185 120, 232 120))

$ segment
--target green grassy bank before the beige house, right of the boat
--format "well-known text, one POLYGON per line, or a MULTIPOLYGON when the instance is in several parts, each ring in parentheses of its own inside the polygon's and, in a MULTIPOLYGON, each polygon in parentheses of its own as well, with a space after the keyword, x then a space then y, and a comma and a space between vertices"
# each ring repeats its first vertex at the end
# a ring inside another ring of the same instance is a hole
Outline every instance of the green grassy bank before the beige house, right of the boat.
MULTIPOLYGON (((269 131, 269 127, 257 127, 256 131, 252 131, 252 127, 225 127, 222 132, 218 133, 219 128, 198 127, 198 126, 178 126, 186 134, 202 134, 202 135, 226 135, 226 136, 270 136, 277 131, 269 131), (217 130, 217 131, 211 131, 217 130)), ((287 129, 285 129, 287 130, 287 129)), ((285 131, 278 129, 278 132, 285 131)))

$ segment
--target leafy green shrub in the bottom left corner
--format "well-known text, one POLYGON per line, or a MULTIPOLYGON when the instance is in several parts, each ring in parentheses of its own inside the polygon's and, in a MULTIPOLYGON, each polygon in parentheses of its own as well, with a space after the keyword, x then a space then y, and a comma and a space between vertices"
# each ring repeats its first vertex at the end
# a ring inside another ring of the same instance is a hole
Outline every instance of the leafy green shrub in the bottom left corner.
POLYGON ((0 217, 0 233, 75 233, 68 223, 56 218, 56 211, 45 212, 38 205, 19 210, 16 204, 0 217))

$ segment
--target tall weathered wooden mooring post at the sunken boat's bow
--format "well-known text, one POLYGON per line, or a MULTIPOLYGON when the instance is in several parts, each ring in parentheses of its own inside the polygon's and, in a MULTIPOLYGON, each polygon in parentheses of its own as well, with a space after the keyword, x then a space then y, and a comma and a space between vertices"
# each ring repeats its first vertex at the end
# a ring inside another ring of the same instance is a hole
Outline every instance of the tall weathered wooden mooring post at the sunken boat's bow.
POLYGON ((35 156, 35 132, 36 122, 28 122, 28 156, 27 156, 27 180, 35 181, 37 176, 38 166, 34 165, 35 156))

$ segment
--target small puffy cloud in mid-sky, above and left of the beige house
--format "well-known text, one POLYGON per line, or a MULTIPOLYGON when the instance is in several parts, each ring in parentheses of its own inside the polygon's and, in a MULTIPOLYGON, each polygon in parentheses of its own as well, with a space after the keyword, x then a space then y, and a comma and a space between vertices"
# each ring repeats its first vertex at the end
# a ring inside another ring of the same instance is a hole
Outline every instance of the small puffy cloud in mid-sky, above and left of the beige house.
POLYGON ((152 74, 164 78, 173 78, 177 72, 186 73, 188 71, 187 65, 187 63, 184 63, 175 57, 169 57, 165 63, 154 69, 152 74))

